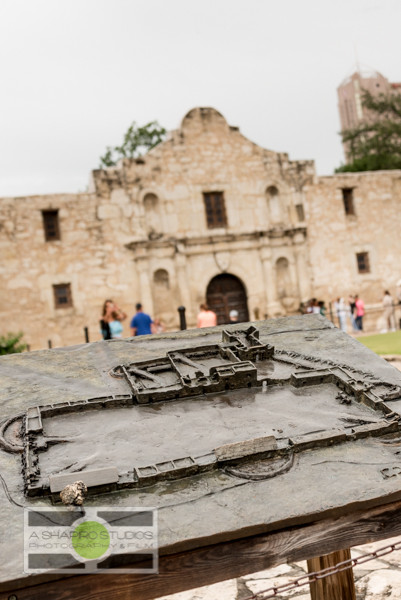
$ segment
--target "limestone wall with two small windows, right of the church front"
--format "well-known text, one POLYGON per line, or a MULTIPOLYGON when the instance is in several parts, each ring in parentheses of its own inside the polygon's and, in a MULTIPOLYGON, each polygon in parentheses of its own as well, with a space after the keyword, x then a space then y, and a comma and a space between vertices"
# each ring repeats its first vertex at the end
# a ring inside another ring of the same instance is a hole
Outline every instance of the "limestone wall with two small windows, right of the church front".
POLYGON ((401 278, 401 171, 319 177, 307 190, 308 240, 316 296, 359 294, 380 303, 395 297, 401 278), (353 188, 355 215, 346 215, 342 188, 353 188), (356 254, 369 254, 370 273, 359 273, 356 254))

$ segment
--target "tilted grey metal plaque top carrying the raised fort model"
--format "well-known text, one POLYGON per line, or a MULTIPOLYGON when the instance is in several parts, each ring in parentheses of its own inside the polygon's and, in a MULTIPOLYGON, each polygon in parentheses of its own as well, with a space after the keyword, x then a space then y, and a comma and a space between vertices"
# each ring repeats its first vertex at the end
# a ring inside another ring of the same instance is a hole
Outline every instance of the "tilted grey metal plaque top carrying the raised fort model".
POLYGON ((401 498, 400 386, 318 316, 5 357, 2 580, 23 577, 15 503, 51 503, 57 478, 158 507, 162 554, 401 498))

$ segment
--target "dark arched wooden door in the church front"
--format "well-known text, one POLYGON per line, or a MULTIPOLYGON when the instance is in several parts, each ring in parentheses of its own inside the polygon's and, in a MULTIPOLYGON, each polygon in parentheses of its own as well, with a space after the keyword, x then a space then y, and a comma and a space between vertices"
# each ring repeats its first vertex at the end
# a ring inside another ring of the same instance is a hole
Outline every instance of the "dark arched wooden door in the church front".
POLYGON ((217 315, 217 324, 230 321, 230 310, 238 311, 238 321, 249 321, 248 303, 244 284, 235 275, 223 273, 209 282, 206 301, 217 315))

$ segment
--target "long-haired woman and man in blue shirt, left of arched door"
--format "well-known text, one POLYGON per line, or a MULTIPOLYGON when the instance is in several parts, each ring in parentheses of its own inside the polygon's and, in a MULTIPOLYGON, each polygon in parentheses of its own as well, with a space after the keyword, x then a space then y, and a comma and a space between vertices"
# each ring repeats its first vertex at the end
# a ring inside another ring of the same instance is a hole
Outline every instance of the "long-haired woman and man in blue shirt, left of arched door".
MULTIPOLYGON (((136 313, 130 322, 131 335, 148 335, 150 333, 162 333, 164 325, 160 319, 153 320, 150 315, 143 311, 142 304, 138 302, 135 306, 136 313)), ((127 314, 113 300, 105 300, 100 319, 100 331, 104 340, 121 338, 123 334, 122 321, 127 314)))

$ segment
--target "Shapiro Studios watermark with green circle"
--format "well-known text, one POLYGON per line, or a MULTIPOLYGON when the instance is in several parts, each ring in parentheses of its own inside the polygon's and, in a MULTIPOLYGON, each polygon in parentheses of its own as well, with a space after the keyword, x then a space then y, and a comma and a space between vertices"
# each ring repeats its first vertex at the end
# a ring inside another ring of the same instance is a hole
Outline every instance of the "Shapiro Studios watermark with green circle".
POLYGON ((157 510, 24 509, 26 573, 157 573, 157 510))

